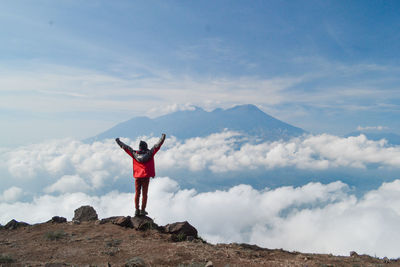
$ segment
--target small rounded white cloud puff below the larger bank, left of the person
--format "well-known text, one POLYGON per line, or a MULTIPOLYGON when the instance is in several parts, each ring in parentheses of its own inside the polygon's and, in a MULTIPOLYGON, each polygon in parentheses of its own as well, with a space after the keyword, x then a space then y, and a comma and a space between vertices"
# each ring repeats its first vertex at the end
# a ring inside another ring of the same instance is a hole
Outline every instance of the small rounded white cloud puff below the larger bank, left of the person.
POLYGON ((73 193, 73 192, 86 192, 90 187, 86 182, 79 176, 76 175, 64 175, 60 180, 54 184, 46 187, 44 192, 53 193, 73 193))

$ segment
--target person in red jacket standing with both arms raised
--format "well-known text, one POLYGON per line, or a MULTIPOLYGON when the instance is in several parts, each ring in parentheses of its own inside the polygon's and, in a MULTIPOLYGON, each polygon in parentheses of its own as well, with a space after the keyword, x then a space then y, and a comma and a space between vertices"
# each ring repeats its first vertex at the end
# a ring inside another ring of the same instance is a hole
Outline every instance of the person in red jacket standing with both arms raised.
POLYGON ((156 175, 154 168, 154 155, 160 150, 165 140, 165 134, 162 134, 160 140, 151 148, 147 148, 145 141, 140 141, 139 150, 133 150, 130 146, 124 144, 119 138, 115 139, 117 144, 128 153, 133 159, 133 177, 135 178, 135 216, 147 215, 147 191, 149 189, 150 178, 156 175), (140 193, 142 192, 142 209, 139 209, 140 193))

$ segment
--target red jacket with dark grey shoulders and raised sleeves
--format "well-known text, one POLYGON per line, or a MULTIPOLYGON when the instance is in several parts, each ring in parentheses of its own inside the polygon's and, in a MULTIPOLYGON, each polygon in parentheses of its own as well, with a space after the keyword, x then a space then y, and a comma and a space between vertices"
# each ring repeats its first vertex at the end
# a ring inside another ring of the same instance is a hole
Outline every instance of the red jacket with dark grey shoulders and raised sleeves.
POLYGON ((116 139, 118 145, 133 159, 133 177, 148 178, 156 176, 154 168, 154 155, 160 150, 165 140, 165 134, 150 150, 133 150, 130 146, 116 139))

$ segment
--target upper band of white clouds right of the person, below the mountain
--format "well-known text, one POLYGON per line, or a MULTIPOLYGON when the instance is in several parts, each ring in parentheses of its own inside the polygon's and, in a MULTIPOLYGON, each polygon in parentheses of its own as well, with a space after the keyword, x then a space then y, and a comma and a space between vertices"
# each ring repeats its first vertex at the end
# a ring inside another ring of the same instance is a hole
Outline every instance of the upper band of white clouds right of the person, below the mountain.
POLYGON ((336 167, 365 168, 378 164, 400 166, 400 148, 387 147, 384 140, 371 141, 364 135, 341 138, 322 134, 287 142, 245 143, 235 149, 240 136, 233 132, 213 134, 176 142, 159 155, 162 168, 209 169, 229 172, 255 168, 325 170, 336 167))

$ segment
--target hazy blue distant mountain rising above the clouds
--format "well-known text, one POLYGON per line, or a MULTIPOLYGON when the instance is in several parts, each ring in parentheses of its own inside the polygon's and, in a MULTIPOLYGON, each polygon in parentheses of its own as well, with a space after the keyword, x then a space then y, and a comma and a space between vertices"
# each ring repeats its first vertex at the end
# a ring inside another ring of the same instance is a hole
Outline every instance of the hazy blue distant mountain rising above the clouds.
POLYGON ((187 139, 204 137, 225 129, 264 141, 286 140, 306 133, 303 129, 269 116, 254 105, 240 105, 211 112, 196 107, 194 110, 177 111, 154 119, 135 117, 85 141, 116 137, 135 139, 143 135, 159 136, 161 133, 187 139))

